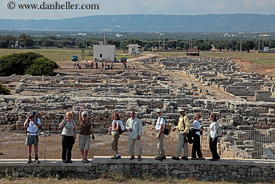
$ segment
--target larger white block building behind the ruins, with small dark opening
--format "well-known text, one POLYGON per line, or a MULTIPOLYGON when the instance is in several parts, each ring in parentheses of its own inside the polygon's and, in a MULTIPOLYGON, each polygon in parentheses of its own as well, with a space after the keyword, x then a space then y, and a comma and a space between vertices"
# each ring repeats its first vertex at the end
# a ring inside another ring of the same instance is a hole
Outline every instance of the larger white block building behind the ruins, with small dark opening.
POLYGON ((113 61, 115 57, 115 45, 93 45, 93 59, 107 59, 113 61))

